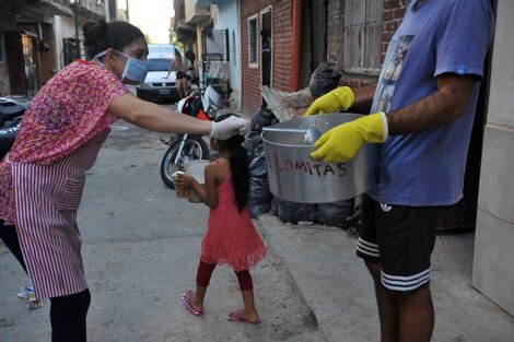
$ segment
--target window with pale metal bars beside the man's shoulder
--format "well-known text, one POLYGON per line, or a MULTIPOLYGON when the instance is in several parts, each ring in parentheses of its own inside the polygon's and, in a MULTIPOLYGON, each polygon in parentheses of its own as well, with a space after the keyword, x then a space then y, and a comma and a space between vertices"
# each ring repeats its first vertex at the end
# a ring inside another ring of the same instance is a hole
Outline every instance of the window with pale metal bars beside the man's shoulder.
POLYGON ((346 71, 372 74, 379 72, 383 8, 383 0, 346 0, 346 71))

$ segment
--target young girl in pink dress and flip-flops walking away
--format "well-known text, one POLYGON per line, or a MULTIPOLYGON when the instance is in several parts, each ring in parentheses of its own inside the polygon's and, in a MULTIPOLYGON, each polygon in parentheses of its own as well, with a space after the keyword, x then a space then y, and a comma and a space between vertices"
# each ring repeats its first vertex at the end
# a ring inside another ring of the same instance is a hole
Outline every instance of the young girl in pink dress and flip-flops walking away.
MULTIPOLYGON (((220 116, 222 121, 231 114, 220 116)), ((205 169, 205 184, 189 176, 178 178, 178 187, 195 191, 209 208, 209 223, 201 243, 200 264, 197 271, 197 291, 183 295, 183 303, 195 316, 203 315, 203 298, 212 271, 226 263, 234 269, 243 294, 244 309, 234 310, 229 321, 257 325, 260 318, 254 305, 254 291, 249 268, 266 255, 266 246, 252 223, 248 211, 248 155, 241 145, 243 137, 227 140, 211 139, 211 148, 220 157, 205 169)))

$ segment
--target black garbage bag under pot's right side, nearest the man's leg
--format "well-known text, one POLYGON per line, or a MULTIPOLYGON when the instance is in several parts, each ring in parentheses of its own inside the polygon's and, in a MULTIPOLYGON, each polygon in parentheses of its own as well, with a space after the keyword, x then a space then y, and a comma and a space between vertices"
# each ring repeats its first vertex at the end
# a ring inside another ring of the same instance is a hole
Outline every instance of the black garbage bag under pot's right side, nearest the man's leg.
POLYGON ((318 203, 317 222, 324 225, 349 228, 354 226, 354 199, 330 203, 318 203))

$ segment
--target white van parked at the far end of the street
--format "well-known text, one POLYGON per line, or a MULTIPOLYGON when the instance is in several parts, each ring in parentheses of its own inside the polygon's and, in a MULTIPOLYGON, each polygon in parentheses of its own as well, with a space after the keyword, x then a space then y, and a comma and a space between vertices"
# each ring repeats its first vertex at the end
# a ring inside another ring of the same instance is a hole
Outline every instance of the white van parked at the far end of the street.
POLYGON ((136 87, 137 96, 152 102, 178 101, 178 91, 175 85, 176 73, 174 70, 170 72, 172 61, 178 50, 173 44, 150 44, 148 48, 149 70, 144 82, 136 87))

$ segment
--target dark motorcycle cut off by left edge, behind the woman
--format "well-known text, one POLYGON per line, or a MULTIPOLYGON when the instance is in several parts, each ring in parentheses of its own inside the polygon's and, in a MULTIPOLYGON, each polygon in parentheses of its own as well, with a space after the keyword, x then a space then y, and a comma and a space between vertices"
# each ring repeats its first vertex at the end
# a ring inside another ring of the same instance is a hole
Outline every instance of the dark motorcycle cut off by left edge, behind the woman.
POLYGON ((28 103, 30 98, 26 96, 0 97, 0 160, 11 150, 14 143, 28 103))

